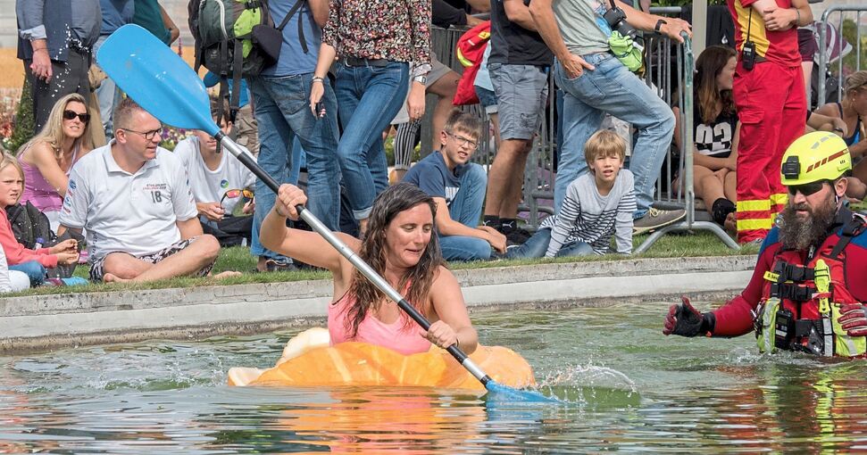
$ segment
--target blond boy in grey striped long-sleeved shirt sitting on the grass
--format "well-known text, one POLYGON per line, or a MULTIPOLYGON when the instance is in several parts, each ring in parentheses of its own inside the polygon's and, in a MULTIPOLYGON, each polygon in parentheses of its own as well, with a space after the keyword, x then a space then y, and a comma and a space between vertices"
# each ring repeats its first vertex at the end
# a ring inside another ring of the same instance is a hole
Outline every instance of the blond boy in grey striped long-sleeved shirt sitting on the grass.
POLYGON ((632 252, 636 202, 632 172, 622 169, 626 142, 613 131, 596 131, 584 146, 584 159, 590 172, 572 180, 560 212, 546 218, 525 244, 510 248, 507 258, 604 254, 611 236, 617 252, 632 252))

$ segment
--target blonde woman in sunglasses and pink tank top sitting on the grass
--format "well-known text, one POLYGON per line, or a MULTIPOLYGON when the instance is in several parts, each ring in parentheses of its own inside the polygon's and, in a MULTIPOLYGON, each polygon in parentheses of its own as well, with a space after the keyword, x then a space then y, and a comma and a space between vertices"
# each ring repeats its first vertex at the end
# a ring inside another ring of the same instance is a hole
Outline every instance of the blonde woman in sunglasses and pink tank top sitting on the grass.
POLYGON ((24 170, 21 203, 29 202, 44 212, 54 231, 72 165, 94 148, 96 140, 84 97, 71 94, 54 103, 39 134, 18 149, 18 162, 24 170))

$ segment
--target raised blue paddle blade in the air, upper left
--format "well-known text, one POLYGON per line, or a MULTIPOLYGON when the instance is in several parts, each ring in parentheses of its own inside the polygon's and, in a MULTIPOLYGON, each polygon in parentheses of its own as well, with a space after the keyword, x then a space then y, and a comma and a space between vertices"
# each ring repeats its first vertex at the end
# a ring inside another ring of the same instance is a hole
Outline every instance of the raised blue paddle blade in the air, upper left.
POLYGON ((147 112, 176 128, 220 128, 211 118, 208 92, 196 71, 146 29, 129 24, 105 40, 96 62, 147 112))

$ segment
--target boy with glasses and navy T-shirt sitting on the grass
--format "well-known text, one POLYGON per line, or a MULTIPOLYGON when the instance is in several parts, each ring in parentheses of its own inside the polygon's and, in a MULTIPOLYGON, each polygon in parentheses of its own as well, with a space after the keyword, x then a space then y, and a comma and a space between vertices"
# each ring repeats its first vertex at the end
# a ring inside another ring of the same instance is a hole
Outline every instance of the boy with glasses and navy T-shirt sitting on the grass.
POLYGON ((479 120, 452 111, 439 134, 438 152, 430 153, 404 177, 437 203, 437 232, 446 261, 478 261, 491 257, 491 247, 505 252, 505 236, 494 227, 478 226, 488 177, 470 162, 479 146, 479 120))

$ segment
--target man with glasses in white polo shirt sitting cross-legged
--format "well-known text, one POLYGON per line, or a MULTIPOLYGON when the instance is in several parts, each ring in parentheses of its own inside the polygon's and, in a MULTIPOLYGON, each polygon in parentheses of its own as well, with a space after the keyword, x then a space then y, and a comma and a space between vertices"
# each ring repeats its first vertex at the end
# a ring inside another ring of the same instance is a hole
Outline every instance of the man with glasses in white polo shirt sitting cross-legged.
POLYGON ((93 281, 204 276, 220 244, 203 235, 187 171, 158 147, 163 125, 124 99, 114 139, 72 167, 61 230, 87 229, 93 281))

